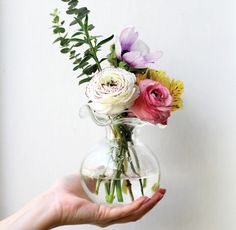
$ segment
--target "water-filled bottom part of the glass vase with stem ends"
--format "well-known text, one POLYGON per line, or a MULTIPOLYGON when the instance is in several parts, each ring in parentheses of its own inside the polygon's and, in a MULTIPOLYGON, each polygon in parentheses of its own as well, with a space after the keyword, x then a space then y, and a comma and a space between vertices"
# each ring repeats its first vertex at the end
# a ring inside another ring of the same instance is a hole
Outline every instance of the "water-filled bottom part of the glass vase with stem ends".
POLYGON ((146 177, 121 178, 119 180, 82 176, 82 186, 85 193, 98 204, 112 206, 129 204, 141 196, 152 197, 159 188, 158 173, 146 177))

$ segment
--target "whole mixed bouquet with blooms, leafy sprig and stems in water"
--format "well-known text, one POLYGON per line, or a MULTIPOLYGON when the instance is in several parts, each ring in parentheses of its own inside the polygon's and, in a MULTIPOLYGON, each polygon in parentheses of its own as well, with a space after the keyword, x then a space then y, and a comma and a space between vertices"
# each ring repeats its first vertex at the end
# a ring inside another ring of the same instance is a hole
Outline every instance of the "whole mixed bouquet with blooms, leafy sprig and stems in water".
MULTIPOLYGON (((133 121, 166 126, 171 113, 183 106, 183 82, 155 69, 154 64, 162 52, 150 52, 134 27, 124 29, 107 56, 100 58, 99 51, 114 35, 103 39, 92 34, 94 26, 88 20, 90 11, 86 7, 78 8, 78 0, 62 1, 68 4, 66 13, 72 20, 66 28, 58 10, 53 11, 53 32, 57 35, 54 42, 59 43, 61 53, 73 61, 73 70, 79 72, 79 84, 87 83, 85 94, 89 109, 98 123, 108 121, 106 125, 110 127, 113 143, 111 145, 110 140, 112 169, 109 170, 107 164, 99 170, 94 168, 96 172, 90 175, 84 170, 84 187, 88 193, 93 193, 90 197, 97 202, 94 195, 99 194, 102 183, 105 192, 100 193, 105 202, 113 203, 115 199, 124 202, 125 194, 129 194, 132 201, 135 199, 133 178, 139 183, 140 195, 145 194, 147 187, 147 177, 141 175, 143 165, 137 153, 146 150, 135 146, 133 121)), ((158 182, 151 184, 151 190, 154 192, 158 185, 158 182)))

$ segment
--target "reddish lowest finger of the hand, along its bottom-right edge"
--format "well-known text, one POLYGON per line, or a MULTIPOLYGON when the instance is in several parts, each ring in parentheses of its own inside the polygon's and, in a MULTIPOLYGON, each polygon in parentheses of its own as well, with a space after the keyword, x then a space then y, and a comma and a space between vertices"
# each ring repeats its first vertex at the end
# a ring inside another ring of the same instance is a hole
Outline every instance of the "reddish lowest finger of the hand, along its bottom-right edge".
POLYGON ((120 219, 113 220, 110 224, 118 224, 118 223, 127 223, 137 221, 142 218, 147 212, 149 212, 163 197, 165 194, 165 189, 159 189, 152 198, 146 199, 140 208, 136 211, 131 212, 128 216, 122 217, 120 219))

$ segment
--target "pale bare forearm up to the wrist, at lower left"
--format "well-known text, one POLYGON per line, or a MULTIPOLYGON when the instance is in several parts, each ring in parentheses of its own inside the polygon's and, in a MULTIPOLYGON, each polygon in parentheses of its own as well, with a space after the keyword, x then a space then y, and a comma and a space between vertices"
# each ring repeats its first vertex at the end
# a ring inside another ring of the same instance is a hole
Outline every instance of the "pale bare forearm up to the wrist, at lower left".
POLYGON ((47 230, 56 223, 53 196, 45 193, 21 210, 0 221, 0 230, 47 230))

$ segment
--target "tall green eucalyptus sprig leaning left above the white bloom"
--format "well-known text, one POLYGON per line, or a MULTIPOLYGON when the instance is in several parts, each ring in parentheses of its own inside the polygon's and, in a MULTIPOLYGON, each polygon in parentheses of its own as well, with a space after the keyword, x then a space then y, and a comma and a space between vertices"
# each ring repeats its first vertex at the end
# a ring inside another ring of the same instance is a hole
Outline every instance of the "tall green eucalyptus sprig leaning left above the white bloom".
POLYGON ((59 11, 55 9, 51 13, 53 33, 58 36, 54 43, 60 43, 61 53, 69 54, 69 58, 73 60, 73 70, 81 70, 78 78, 81 78, 79 84, 82 84, 90 81, 93 74, 102 69, 101 63, 107 58, 99 59, 98 52, 105 43, 113 39, 114 35, 105 39, 101 39, 102 36, 91 35, 94 25, 88 22, 90 11, 87 7, 78 8, 78 0, 62 1, 68 5, 66 14, 73 17, 69 26, 76 26, 77 29, 70 35, 68 28, 65 28, 65 21, 60 19, 59 11), (99 39, 101 40, 99 41, 99 39), (81 53, 82 47, 85 47, 85 51, 81 53))

